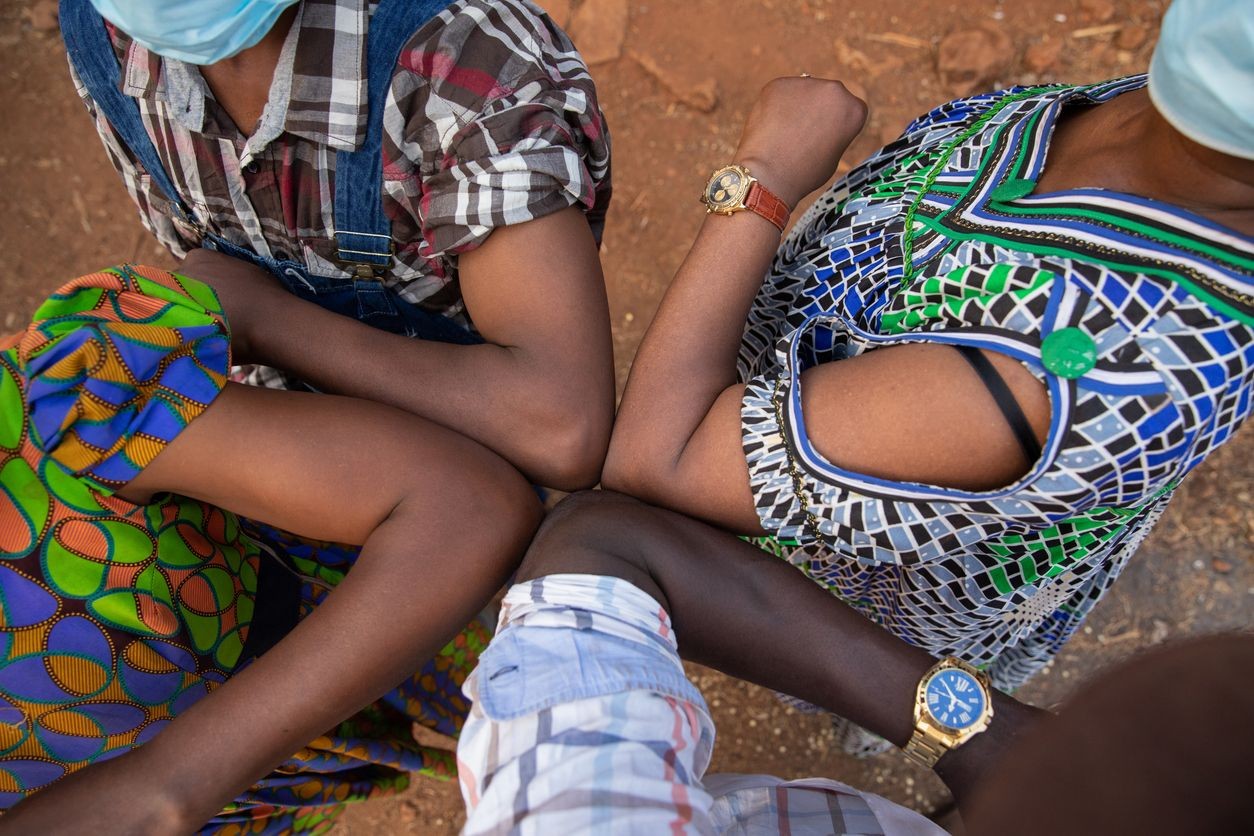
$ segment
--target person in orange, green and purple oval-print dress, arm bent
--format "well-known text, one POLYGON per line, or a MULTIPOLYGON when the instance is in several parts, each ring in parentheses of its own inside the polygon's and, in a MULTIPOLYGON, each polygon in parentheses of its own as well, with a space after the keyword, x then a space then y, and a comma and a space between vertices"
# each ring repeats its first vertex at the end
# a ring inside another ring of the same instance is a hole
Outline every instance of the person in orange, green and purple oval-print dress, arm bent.
POLYGON ((3 832, 322 832, 454 772, 413 728, 460 728, 535 493, 231 351, 208 285, 130 266, 0 345, 3 832))

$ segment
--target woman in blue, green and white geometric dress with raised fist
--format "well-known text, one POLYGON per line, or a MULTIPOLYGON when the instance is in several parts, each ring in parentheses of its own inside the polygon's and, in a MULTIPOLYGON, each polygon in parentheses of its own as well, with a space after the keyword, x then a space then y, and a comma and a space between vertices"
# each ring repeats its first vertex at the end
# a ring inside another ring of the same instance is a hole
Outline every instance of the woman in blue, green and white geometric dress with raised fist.
POLYGON ((865 105, 770 83, 735 157, 757 183, 737 204, 747 175, 712 179, 731 214, 643 338, 603 485, 756 538, 1013 691, 1250 412, 1251 55, 1254 6, 1178 0, 1147 86, 942 105, 779 247, 761 196, 786 218, 865 105))

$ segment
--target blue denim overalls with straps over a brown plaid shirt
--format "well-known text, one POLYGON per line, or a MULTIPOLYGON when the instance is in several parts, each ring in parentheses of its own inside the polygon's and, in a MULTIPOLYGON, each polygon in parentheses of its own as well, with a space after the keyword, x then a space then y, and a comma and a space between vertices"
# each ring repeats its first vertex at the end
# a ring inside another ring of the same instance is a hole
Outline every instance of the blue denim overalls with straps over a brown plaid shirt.
POLYGON ((384 104, 401 46, 449 0, 380 0, 366 39, 369 122, 360 148, 335 159, 335 243, 351 278, 316 276, 305 264, 258 256, 204 229, 174 188, 139 118, 122 93, 120 68, 100 15, 89 0, 61 0, 60 25, 79 79, 152 182, 169 199, 174 221, 194 228, 202 246, 270 271, 291 293, 393 333, 470 345, 483 340, 456 322, 400 298, 379 281, 393 258, 391 223, 382 207, 384 104))

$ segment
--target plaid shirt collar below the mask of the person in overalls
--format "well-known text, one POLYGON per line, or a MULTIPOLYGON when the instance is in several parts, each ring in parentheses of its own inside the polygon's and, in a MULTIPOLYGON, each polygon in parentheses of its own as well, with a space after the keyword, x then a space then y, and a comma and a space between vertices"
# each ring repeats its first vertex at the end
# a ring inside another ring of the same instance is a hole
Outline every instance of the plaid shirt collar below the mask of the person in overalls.
MULTIPOLYGON (((246 154, 261 152, 283 132, 335 150, 361 144, 367 115, 366 29, 374 5, 367 0, 301 4, 246 154)), ((123 93, 164 102, 169 118, 187 130, 219 133, 207 104, 208 86, 196 65, 154 55, 120 30, 114 34, 123 61, 123 93)))

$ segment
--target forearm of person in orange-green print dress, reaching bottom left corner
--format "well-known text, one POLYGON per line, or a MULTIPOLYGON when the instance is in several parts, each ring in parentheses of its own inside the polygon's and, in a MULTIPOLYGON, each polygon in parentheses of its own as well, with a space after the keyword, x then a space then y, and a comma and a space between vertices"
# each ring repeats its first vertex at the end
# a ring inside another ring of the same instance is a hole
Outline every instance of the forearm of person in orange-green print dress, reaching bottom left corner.
MULTIPOLYGON (((293 752, 413 674, 474 617, 510 569, 503 544, 490 541, 499 538, 477 535, 475 528, 399 508, 327 600, 267 654, 140 750, 19 805, 5 816, 6 828, 59 832, 75 792, 108 798, 140 786, 147 832, 198 828, 293 752), (420 530, 440 548, 415 554, 420 530), (449 559, 454 550, 456 559, 449 559)), ((508 544, 515 553, 525 536, 517 530, 508 544)), ((71 817, 99 833, 139 826, 108 806, 84 806, 71 817)))

